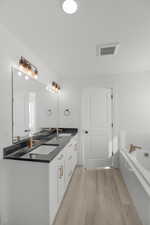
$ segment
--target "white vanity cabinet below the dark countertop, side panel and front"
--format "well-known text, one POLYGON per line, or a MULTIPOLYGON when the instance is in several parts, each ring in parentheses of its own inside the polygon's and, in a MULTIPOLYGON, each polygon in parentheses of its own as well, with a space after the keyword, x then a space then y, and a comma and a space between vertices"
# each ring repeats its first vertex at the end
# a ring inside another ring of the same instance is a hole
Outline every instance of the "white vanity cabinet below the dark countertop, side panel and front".
POLYGON ((53 224, 77 164, 75 140, 50 163, 5 160, 5 225, 53 224))

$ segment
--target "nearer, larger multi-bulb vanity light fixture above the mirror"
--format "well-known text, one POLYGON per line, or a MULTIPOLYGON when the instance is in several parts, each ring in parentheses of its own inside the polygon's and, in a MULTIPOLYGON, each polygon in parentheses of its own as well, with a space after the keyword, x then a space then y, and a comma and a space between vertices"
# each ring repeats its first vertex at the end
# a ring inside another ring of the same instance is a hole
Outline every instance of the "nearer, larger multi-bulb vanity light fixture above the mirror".
MULTIPOLYGON (((26 76, 29 76, 33 79, 38 79, 38 69, 22 56, 19 60, 19 69, 20 69, 20 73, 22 71, 23 73, 26 74, 26 76)), ((26 79, 26 76, 25 76, 25 79, 26 79)))

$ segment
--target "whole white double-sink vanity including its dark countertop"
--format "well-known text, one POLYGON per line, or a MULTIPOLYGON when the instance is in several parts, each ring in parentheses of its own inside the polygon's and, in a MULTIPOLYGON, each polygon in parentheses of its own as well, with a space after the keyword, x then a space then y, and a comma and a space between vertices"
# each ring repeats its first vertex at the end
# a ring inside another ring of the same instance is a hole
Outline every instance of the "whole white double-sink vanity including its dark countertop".
POLYGON ((77 165, 77 130, 59 137, 53 134, 33 149, 24 148, 4 150, 9 152, 5 154, 7 223, 51 225, 77 165), (20 153, 24 148, 26 153, 20 153))

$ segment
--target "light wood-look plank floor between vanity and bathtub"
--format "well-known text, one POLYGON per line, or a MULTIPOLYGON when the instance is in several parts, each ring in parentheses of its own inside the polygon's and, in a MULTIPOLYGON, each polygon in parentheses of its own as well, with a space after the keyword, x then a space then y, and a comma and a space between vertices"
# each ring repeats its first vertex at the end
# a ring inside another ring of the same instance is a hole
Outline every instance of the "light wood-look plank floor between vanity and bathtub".
POLYGON ((77 168, 54 225, 142 225, 117 169, 77 168))

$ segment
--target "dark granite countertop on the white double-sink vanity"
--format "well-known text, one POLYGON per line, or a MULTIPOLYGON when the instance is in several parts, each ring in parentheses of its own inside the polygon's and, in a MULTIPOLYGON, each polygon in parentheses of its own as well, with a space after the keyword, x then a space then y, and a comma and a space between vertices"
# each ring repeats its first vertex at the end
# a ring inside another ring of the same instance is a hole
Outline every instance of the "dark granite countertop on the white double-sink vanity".
MULTIPOLYGON (((35 144, 32 148, 27 146, 26 142, 16 143, 9 147, 4 148, 4 159, 12 159, 12 160, 23 160, 23 161, 34 161, 34 162, 51 162, 60 151, 64 149, 64 147, 69 143, 69 141, 74 137, 78 132, 76 128, 64 128, 63 134, 71 134, 70 136, 60 136, 57 137, 56 132, 50 134, 46 137, 38 138, 37 144, 35 144), (37 149, 40 146, 55 146, 55 149, 48 154, 32 154, 33 150, 37 149)), ((34 137, 36 139, 36 137, 34 137)))

